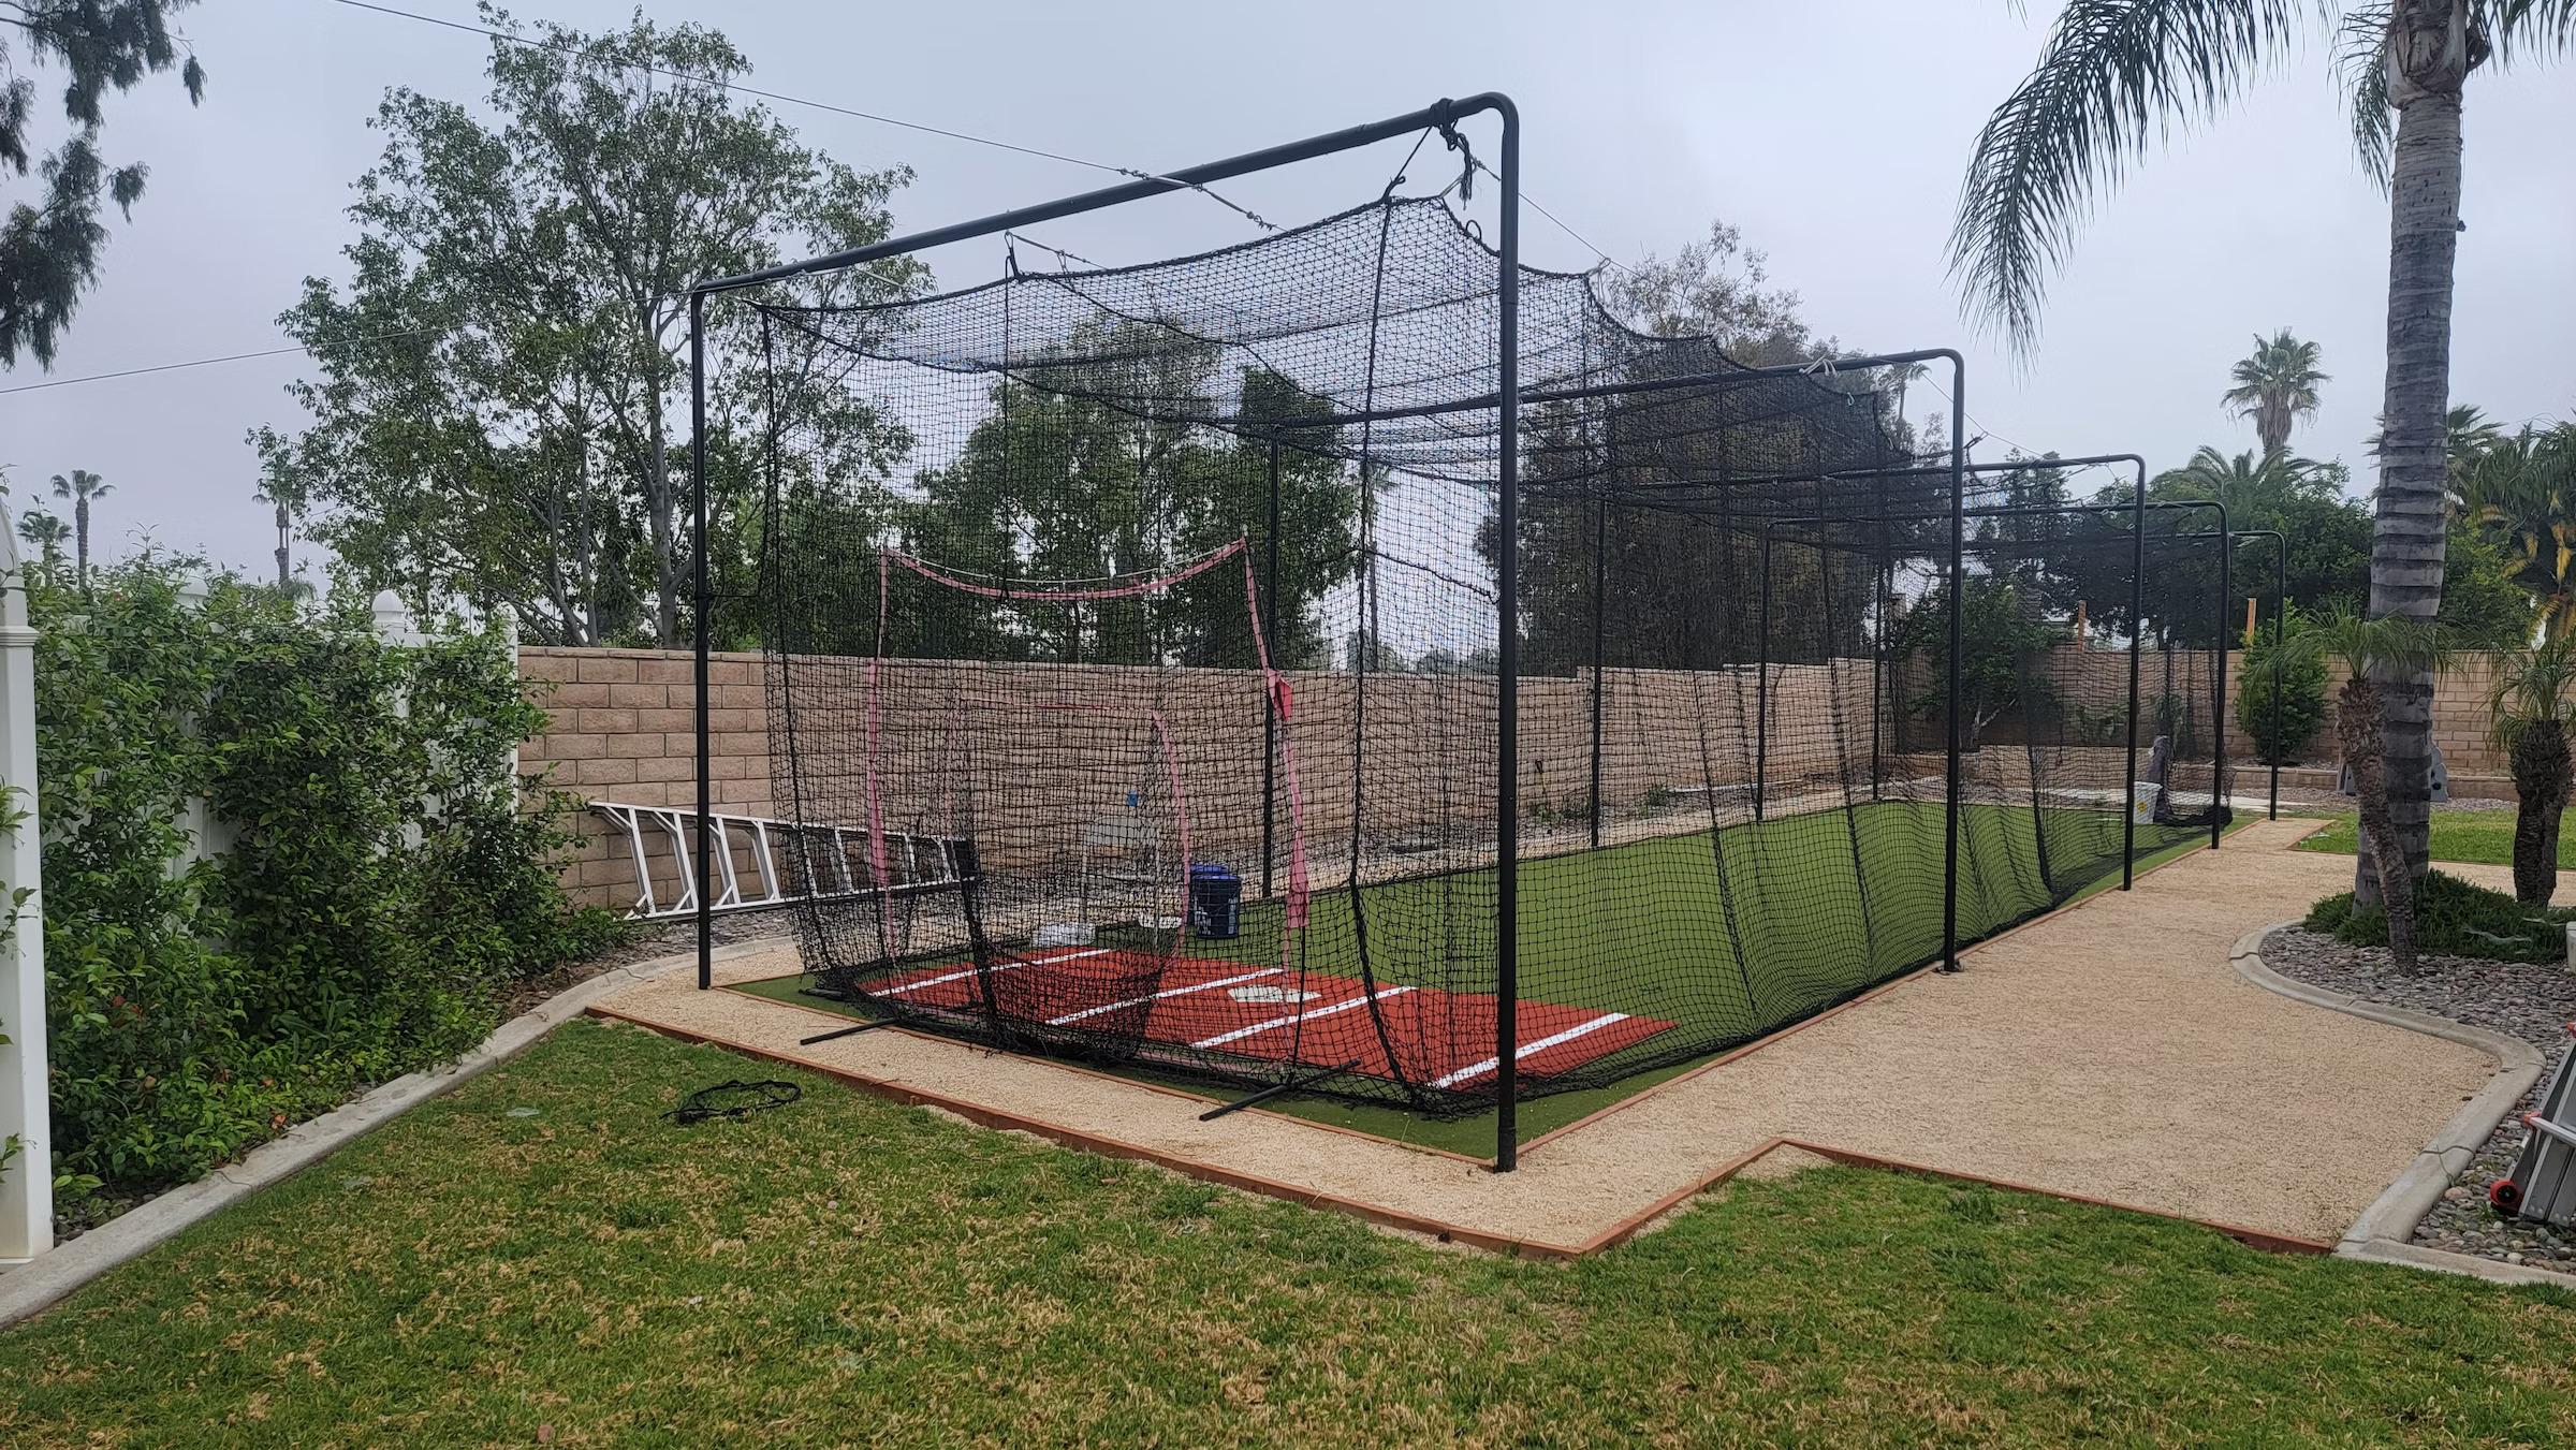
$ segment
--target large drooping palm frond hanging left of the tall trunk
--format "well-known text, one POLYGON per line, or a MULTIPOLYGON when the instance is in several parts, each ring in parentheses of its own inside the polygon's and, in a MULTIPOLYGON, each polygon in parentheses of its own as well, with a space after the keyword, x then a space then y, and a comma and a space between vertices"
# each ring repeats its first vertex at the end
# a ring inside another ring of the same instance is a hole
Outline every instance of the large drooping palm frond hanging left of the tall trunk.
POLYGON ((1978 131, 1960 183, 1950 276, 1965 314, 2027 355, 2048 276, 2094 198, 2177 126, 2233 100, 2306 13, 2298 0, 2066 5, 2040 62, 1978 131))

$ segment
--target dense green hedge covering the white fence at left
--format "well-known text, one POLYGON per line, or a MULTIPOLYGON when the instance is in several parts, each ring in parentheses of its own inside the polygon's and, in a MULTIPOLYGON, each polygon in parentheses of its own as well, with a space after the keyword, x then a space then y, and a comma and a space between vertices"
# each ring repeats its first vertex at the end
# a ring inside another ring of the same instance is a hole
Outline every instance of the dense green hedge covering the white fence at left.
POLYGON ((510 752, 544 711, 505 639, 389 644, 363 603, 180 585, 144 559, 88 598, 28 587, 72 1205, 451 1059, 505 989, 618 932, 556 883, 567 801, 520 811, 510 752))

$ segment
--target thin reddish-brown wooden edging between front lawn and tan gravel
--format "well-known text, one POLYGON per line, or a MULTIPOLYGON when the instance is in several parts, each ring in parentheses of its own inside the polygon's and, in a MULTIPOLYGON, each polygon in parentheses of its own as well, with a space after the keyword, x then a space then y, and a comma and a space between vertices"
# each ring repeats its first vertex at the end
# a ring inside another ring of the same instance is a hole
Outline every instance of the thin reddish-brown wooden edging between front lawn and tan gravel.
MULTIPOLYGON (((793 1004, 788 1002, 788 1007, 793 1007, 793 1004)), ((2089 1195, 2081 1195, 2081 1192, 2061 1192, 2061 1190, 2053 1190, 2053 1187, 2035 1187, 2035 1185, 2025 1185, 2025 1182, 2014 1182, 2014 1180, 2002 1180, 2002 1177, 1989 1177, 1989 1174, 1942 1169, 1942 1167, 1929 1167, 1929 1164, 1911 1164, 1911 1162, 1904 1162, 1904 1159, 1888 1159, 1888 1156, 1868 1154, 1868 1151, 1860 1151, 1860 1149, 1839 1149, 1839 1146, 1832 1146, 1832 1144, 1816 1144, 1816 1141, 1808 1141, 1808 1138, 1790 1138, 1790 1136, 1772 1136, 1772 1138, 1765 1138, 1765 1141, 1754 1144, 1744 1154, 1736 1154, 1734 1159, 1718 1164, 1716 1169, 1710 1169, 1710 1172, 1705 1172, 1705 1174, 1700 1174, 1700 1177, 1695 1177, 1695 1180, 1674 1187, 1672 1192, 1656 1198, 1654 1203, 1638 1208, 1636 1213, 1628 1213, 1625 1218, 1610 1223, 1607 1229, 1602 1229, 1600 1234, 1595 1234, 1595 1236, 1589 1236, 1589 1239, 1584 1239, 1579 1244, 1558 1244, 1558 1241, 1551 1241, 1551 1239, 1533 1239, 1533 1236, 1520 1236, 1520 1234, 1494 1234, 1494 1231, 1486 1231, 1486 1229, 1468 1229, 1463 1223, 1450 1223, 1450 1221, 1432 1218, 1432 1216, 1425 1216, 1425 1213, 1409 1213, 1409 1210, 1401 1210, 1401 1208, 1388 1208, 1383 1203, 1368 1203, 1363 1198, 1347 1198, 1347 1195, 1340 1195, 1340 1192, 1324 1192, 1324 1190, 1314 1190, 1314 1187, 1301 1187, 1301 1185, 1293 1185, 1293 1182, 1280 1182, 1280 1180, 1273 1180, 1273 1177, 1262 1177, 1262 1174, 1231 1169, 1231 1167, 1224 1167, 1224 1164, 1211 1164, 1211 1162, 1203 1162, 1203 1159, 1193 1159, 1193 1156, 1185 1156, 1185 1154, 1175 1154, 1170 1149, 1151 1149, 1151 1146, 1144 1146, 1144 1144, 1131 1144, 1126 1138, 1110 1138, 1105 1133, 1092 1133, 1092 1131, 1084 1131, 1084 1128, 1072 1128, 1072 1125, 1064 1125, 1064 1123, 1051 1123, 1046 1118, 1033 1118, 1033 1115, 1025 1115, 1025 1113, 1010 1113, 1010 1110, 1002 1110, 1002 1107, 989 1107, 984 1102, 971 1102, 971 1100, 953 1097, 953 1095, 945 1095, 945 1092, 933 1092, 933 1089, 925 1089, 925 1087, 912 1087, 912 1084, 904 1084, 904 1082, 894 1082, 894 1079, 884 1079, 884 1077, 871 1077, 871 1074, 863 1074, 863 1071, 855 1071, 855 1069, 848 1069, 848 1066, 835 1066, 835 1064, 811 1059, 806 1053, 791 1053, 791 1051, 755 1048, 755 1046, 747 1046, 747 1043, 734 1043, 734 1040, 716 1038, 716 1035, 708 1035, 708 1033, 701 1033, 701 1030, 693 1030, 693 1028, 680 1028, 680 1025, 672 1025, 672 1022, 657 1022, 652 1017, 623 1012, 618 1007, 611 1007, 608 1002, 592 1002, 590 1004, 590 1015, 592 1017, 603 1017, 603 1020, 626 1022, 626 1025, 634 1025, 634 1028, 644 1028, 649 1033, 659 1033, 665 1038, 675 1038, 675 1040, 683 1040, 683 1043, 714 1046, 714 1048, 724 1048, 724 1051, 742 1053, 742 1056, 750 1056, 750 1059, 783 1061, 783 1064, 791 1064, 791 1066, 799 1066, 799 1069, 806 1069, 806 1071, 814 1071, 814 1074, 822 1074, 822 1077, 832 1077, 832 1079, 848 1082, 850 1087, 858 1087, 860 1092, 868 1092, 873 1097, 886 1097, 886 1100, 902 1102, 907 1107, 938 1107, 943 1113, 953 1113, 953 1115, 966 1118, 969 1123, 976 1123, 981 1128, 997 1128, 997 1131, 1010 1131, 1010 1133, 1030 1133, 1030 1136, 1046 1138, 1051 1144, 1059 1144, 1059 1146, 1066 1146, 1066 1149, 1074 1149, 1074 1151, 1100 1154, 1100 1156, 1110 1156, 1110 1159, 1146 1162, 1146 1164, 1157 1164, 1157 1167, 1172 1169, 1172 1172, 1177 1172, 1182 1177, 1193 1177, 1193 1180, 1200 1180, 1200 1182, 1213 1182, 1218 1187, 1234 1187, 1234 1190, 1242 1190, 1242 1192, 1257 1192, 1257 1195, 1265 1195, 1265 1198, 1280 1198, 1280 1200, 1296 1203, 1301 1208, 1324 1208, 1324 1210, 1332 1210, 1332 1213, 1345 1213, 1350 1218, 1360 1218, 1360 1221, 1376 1223, 1381 1229, 1399 1229, 1399 1231, 1406 1231, 1406 1234, 1422 1234, 1422 1236, 1437 1239, 1443 1244, 1466 1244, 1471 1249, 1486 1249, 1486 1252, 1494 1252, 1494 1254, 1512 1254, 1512 1257, 1528 1257, 1528 1259, 1561 1259, 1561 1262, 1571 1262, 1571 1259, 1582 1259, 1587 1254, 1597 1254, 1602 1249, 1615 1249, 1615 1247, 1636 1239, 1638 1234, 1643 1234, 1651 1223, 1656 1223, 1667 1213, 1682 1208, 1685 1203, 1690 1203, 1692 1198, 1708 1192, 1710 1187, 1718 1187, 1721 1182, 1736 1177, 1739 1172, 1744 1172, 1747 1167, 1752 1167, 1754 1162, 1759 1162, 1762 1156, 1767 1156, 1767 1154, 1772 1154, 1777 1149, 1798 1149, 1798 1151, 1816 1154, 1821 1159, 1839 1162, 1839 1164, 1852 1164, 1852 1167, 1873 1167, 1873 1169, 1904 1172, 1904 1174, 1917 1174, 1917 1177, 1940 1177, 1940 1180, 1950 1180, 1950 1182, 1976 1182, 1976 1185, 1999 1187, 1999 1190, 2007 1190, 2007 1192, 2032 1192, 2032 1195, 2040 1195, 2040 1198, 2058 1198, 2058 1200, 2066 1200, 2066 1203, 2084 1203, 2084 1205, 2094 1205, 2094 1208, 2115 1208, 2120 1213, 2143 1213, 2148 1218, 2166 1218, 2166 1221, 2174 1221, 2174 1223, 2195 1223, 2200 1229, 2210 1229, 2215 1234, 2226 1234, 2228 1239, 2236 1239, 2241 1244, 2249 1244, 2254 1249, 2267 1249, 2267 1252, 2285 1252, 2285 1254, 2326 1254, 2326 1252, 2331 1252, 2331 1244, 2316 1244, 2316 1241, 2308 1241, 2308 1239, 2295 1239, 2290 1234, 2272 1234, 2269 1229, 2249 1229, 2249 1226, 2241 1226, 2241 1223, 2221 1223, 2221 1221, 2210 1221, 2210 1218, 2192 1218, 2187 1213, 2169 1213, 2169 1210, 2161 1210, 2161 1208, 2141 1208, 2136 1203, 2117 1203, 2117 1200, 2110 1200, 2110 1198, 2089 1198, 2089 1195)), ((819 1015, 824 1015, 824 1017, 840 1017, 837 1012, 819 1012, 819 1015)), ((1128 1079, 1113 1079, 1113 1082, 1118 1082, 1123 1087, 1151 1087, 1151 1084, 1136 1084, 1136 1082, 1128 1082, 1128 1079)), ((1164 1089, 1164 1092, 1170 1092, 1170 1089, 1164 1089)), ((1188 1097, 1188 1095, 1180 1095, 1180 1097, 1188 1097)), ((1311 1123, 1301 1120, 1301 1125, 1311 1125, 1311 1123)), ((1358 1136, 1365 1138, 1370 1133, 1358 1133, 1358 1136)), ((1476 1162, 1476 1159, 1468 1159, 1468 1162, 1476 1162)))

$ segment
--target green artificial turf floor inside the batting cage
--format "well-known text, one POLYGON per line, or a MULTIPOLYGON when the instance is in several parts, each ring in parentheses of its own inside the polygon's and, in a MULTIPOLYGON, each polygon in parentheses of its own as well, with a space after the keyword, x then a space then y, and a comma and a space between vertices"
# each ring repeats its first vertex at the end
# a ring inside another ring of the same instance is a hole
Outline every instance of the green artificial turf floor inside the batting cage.
MULTIPOLYGON (((2040 819, 2027 806, 1960 809, 1965 865, 1960 935, 1976 940, 2050 904, 2038 871, 2040 819)), ((1716 832, 1726 852, 1736 932, 1710 891, 1710 834, 1690 832, 1613 845, 1597 852, 1551 855, 1522 863, 1520 873, 1520 997, 1605 1012, 1672 1020, 1667 1040, 1646 1040, 1605 1064, 1615 1077, 1600 1087, 1533 1097, 1515 1118, 1530 1141, 1777 1025, 1814 1015, 1893 971, 1929 961, 1942 925, 1942 809, 1922 801, 1880 801, 1855 811, 1868 871, 1868 919, 1852 873, 1852 840, 1842 811, 1811 811, 1716 832), (1736 935, 1757 945, 1752 968, 1736 958, 1736 935), (1747 992, 1752 986, 1747 1007, 1747 992), (1664 1048, 1672 1038, 1718 1043, 1685 1061, 1664 1048), (1662 1061, 1659 1061, 1662 1059, 1662 1061), (1631 1071, 1623 1066, 1636 1064, 1631 1071)), ((2045 811, 2053 871, 2102 876, 2076 896, 2117 886, 2120 816, 2107 811, 2045 811), (2061 865, 2063 863, 2063 865, 2061 865)), ((2143 845, 2179 832, 2143 832, 2143 845)), ((2141 868, 2197 850, 2190 834, 2141 858, 2141 868)), ((1466 871, 1365 886, 1370 963, 1381 981, 1448 984, 1448 961, 1492 961, 1492 871, 1466 871), (1466 925, 1463 935, 1448 935, 1466 925)), ((1190 953, 1216 961, 1267 966, 1280 958, 1275 901, 1244 909, 1234 940, 1193 940, 1190 953)), ((1105 937, 1108 940, 1108 937, 1105 937)), ((1358 961, 1345 891, 1319 891, 1306 927, 1306 966, 1332 974, 1358 961)), ((747 986, 760 997, 866 1017, 863 1007, 806 997, 804 979, 747 986)), ((1203 1084, 1157 1071, 1128 1071, 1144 1082, 1206 1092, 1203 1084)), ((1236 1089, 1239 1092, 1239 1089, 1236 1089)), ((1231 1097, 1213 1092, 1211 1097, 1231 1097)), ((1492 1156, 1494 1113, 1427 1118, 1401 1105, 1288 1095, 1267 1102, 1314 1123, 1358 1128, 1383 1138, 1492 1156)))

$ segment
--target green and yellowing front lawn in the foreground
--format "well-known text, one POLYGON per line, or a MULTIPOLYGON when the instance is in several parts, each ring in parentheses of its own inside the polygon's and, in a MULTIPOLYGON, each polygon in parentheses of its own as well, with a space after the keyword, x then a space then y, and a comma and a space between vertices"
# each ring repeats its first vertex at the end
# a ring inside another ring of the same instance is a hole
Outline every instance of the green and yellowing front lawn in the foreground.
POLYGON ((0 1332, 0 1445, 2550 1445, 2576 1295, 1870 1169, 1435 1249, 572 1022, 0 1332))

